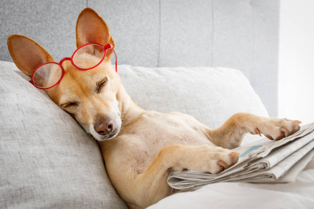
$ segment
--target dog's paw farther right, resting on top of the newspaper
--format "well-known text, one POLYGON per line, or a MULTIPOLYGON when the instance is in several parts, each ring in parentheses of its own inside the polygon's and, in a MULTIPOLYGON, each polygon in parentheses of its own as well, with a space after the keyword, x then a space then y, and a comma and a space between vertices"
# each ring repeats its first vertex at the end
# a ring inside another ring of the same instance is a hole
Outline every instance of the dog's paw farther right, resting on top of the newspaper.
POLYGON ((299 131, 300 123, 301 121, 299 120, 289 120, 287 118, 267 118, 267 120, 263 121, 254 129, 252 134, 264 134, 271 140, 280 140, 299 131))

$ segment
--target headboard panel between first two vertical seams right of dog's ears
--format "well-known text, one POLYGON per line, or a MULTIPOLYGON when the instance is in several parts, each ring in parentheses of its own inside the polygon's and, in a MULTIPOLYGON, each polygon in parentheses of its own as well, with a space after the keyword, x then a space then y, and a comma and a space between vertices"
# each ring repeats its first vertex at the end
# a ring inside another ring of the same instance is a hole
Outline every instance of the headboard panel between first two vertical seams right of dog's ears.
POLYGON ((211 1, 161 1, 159 66, 212 66, 211 1))

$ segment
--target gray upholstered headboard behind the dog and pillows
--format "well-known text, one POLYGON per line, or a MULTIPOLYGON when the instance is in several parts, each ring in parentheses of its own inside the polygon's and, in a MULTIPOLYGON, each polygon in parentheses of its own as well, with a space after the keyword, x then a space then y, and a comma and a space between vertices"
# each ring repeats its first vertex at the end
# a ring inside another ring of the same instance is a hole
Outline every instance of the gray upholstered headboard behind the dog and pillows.
POLYGON ((70 56, 86 6, 107 22, 119 64, 239 69, 277 115, 279 0, 3 0, 0 60, 11 61, 12 33, 33 38, 57 61, 70 56))

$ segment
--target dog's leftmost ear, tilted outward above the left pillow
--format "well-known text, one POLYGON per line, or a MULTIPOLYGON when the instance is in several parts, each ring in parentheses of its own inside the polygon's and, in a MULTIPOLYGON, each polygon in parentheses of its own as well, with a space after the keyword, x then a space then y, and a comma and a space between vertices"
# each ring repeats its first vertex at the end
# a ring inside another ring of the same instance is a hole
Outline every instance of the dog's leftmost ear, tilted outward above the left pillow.
POLYGON ((38 66, 53 61, 52 56, 41 45, 24 35, 10 35, 8 49, 16 67, 29 76, 38 66))

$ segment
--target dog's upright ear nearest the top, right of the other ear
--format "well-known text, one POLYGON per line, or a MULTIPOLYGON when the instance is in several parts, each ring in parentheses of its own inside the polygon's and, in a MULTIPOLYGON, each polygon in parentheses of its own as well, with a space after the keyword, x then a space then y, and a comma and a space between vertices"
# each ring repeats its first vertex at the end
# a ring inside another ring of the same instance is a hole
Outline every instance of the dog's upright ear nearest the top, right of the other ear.
MULTIPOLYGON (((87 43, 97 43, 101 45, 111 44, 115 47, 114 40, 110 35, 110 30, 103 20, 93 9, 85 8, 76 21, 76 47, 81 47, 87 43)), ((110 57, 112 50, 106 53, 110 57)))

